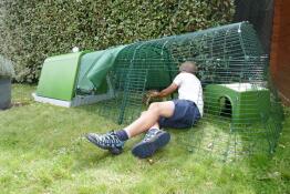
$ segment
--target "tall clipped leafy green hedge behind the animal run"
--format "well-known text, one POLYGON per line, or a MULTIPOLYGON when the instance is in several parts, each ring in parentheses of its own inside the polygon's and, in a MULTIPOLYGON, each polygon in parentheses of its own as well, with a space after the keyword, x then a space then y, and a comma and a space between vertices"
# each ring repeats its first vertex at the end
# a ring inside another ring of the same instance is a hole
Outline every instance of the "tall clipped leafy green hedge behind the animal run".
POLYGON ((49 55, 101 50, 225 24, 232 0, 0 1, 0 53, 17 81, 35 82, 49 55))

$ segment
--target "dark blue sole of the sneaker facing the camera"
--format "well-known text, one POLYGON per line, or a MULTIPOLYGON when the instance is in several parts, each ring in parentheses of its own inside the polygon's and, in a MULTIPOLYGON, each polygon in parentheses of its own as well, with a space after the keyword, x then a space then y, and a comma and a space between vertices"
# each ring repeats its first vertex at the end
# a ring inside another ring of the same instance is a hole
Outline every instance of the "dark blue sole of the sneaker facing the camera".
POLYGON ((170 141, 170 134, 165 132, 156 135, 156 140, 151 142, 141 142, 132 149, 132 154, 139 157, 146 159, 152 156, 156 150, 165 146, 170 141))

